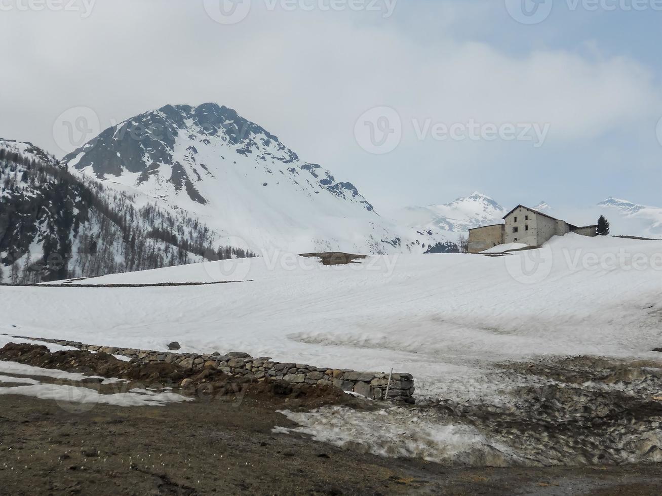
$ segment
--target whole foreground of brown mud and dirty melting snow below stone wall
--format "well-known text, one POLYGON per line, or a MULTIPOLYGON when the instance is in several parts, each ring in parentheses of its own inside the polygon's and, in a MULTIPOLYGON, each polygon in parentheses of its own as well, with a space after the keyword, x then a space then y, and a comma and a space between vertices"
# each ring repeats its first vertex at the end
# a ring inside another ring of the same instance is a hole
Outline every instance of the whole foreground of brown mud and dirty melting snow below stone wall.
POLYGON ((193 399, 76 409, 0 395, 0 493, 662 493, 657 362, 500 364, 536 386, 502 403, 408 407, 38 345, 7 345, 0 360, 122 381, 77 384, 103 394, 172 388, 193 399))

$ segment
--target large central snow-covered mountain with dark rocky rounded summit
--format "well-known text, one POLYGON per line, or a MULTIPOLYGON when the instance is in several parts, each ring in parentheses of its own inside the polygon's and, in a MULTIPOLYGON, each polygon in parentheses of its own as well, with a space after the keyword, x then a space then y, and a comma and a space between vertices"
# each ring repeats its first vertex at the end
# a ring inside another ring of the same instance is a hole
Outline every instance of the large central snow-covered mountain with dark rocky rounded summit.
POLYGON ((354 185, 213 103, 145 112, 105 130, 64 162, 107 186, 182 208, 254 251, 420 253, 421 244, 444 240, 381 218, 354 185))

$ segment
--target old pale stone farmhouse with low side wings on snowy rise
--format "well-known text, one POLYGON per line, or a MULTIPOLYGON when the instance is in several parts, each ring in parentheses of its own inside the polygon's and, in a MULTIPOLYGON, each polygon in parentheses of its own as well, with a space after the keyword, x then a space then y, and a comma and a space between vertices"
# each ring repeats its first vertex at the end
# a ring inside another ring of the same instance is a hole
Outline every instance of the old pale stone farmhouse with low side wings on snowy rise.
POLYGON ((505 224, 469 229, 469 253, 480 253, 504 243, 539 247, 553 235, 562 236, 567 233, 595 236, 598 227, 573 226, 565 220, 555 219, 524 205, 516 206, 503 219, 505 224))

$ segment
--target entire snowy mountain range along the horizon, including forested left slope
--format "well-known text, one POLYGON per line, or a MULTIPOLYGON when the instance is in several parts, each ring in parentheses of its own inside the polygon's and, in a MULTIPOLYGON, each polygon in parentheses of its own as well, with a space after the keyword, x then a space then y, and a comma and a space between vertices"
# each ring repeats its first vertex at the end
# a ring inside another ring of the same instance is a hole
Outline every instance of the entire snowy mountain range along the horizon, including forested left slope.
MULTIPOLYGON (((555 215, 545 203, 536 210, 555 215)), ((662 208, 608 198, 622 233, 660 237, 662 208), (620 222, 622 221, 622 222, 620 222), (624 227, 623 227, 624 226, 624 227)), ((260 254, 448 253, 502 222, 473 192, 388 215, 226 106, 166 105, 62 160, 0 140, 0 278, 38 282, 260 254), (3 267, 9 267, 10 273, 3 267)), ((593 213, 587 217, 592 218, 593 213)))

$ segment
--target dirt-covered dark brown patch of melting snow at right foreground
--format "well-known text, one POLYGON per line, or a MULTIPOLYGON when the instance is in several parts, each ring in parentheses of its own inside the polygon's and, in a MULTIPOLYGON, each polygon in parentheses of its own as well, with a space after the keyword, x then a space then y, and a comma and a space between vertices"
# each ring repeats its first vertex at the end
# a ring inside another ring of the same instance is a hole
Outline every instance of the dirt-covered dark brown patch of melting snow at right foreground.
POLYGON ((662 462, 661 367, 590 356, 500 364, 536 385, 514 388, 500 404, 433 408, 511 448, 516 464, 662 462))

